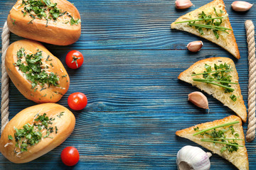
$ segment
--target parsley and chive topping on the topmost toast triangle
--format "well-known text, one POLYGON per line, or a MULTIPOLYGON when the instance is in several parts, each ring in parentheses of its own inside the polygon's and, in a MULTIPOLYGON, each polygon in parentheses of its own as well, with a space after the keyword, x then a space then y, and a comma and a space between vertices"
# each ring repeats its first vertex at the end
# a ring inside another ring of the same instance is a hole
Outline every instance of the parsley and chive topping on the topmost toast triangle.
MULTIPOLYGON (((215 35, 215 38, 219 38, 220 36, 218 35, 218 31, 222 31, 224 33, 228 33, 227 30, 232 30, 230 28, 225 28, 220 26, 223 23, 223 17, 219 16, 219 13, 217 13, 216 9, 213 7, 215 11, 215 15, 217 17, 212 17, 212 15, 206 15, 204 11, 198 14, 198 19, 196 20, 188 20, 188 21, 181 21, 181 22, 176 22, 176 23, 188 23, 188 26, 195 27, 201 35, 203 35, 203 29, 206 30, 213 30, 213 33, 215 35), (196 22, 201 22, 203 21, 204 23, 196 23, 196 22)), ((224 13, 222 10, 220 10, 220 14, 224 13)))

